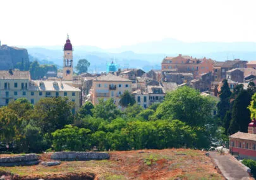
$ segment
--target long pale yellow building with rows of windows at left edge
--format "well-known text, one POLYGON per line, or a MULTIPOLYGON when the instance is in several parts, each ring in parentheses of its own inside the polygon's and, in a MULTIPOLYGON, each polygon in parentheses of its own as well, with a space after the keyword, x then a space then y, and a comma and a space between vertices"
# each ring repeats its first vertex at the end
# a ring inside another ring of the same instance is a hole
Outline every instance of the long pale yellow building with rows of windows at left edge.
POLYGON ((30 80, 29 71, 0 71, 0 106, 21 97, 32 104, 44 97, 68 97, 75 102, 76 111, 80 107, 80 93, 80 89, 63 81, 30 80))

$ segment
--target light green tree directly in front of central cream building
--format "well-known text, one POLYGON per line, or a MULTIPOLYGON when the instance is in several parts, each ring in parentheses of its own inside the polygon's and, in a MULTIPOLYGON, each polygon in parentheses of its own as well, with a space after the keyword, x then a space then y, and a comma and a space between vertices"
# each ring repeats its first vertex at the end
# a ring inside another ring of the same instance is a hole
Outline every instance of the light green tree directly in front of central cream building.
POLYGON ((99 104, 95 105, 91 111, 94 117, 100 117, 108 121, 121 115, 121 111, 117 109, 113 99, 99 99, 99 104))

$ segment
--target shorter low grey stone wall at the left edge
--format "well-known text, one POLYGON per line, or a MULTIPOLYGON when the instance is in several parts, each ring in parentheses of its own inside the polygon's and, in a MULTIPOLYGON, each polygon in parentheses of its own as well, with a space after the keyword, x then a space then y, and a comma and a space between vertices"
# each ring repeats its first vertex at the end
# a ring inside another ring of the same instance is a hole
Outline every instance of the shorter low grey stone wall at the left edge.
POLYGON ((39 164, 39 162, 39 155, 35 153, 0 158, 0 166, 34 165, 39 164))

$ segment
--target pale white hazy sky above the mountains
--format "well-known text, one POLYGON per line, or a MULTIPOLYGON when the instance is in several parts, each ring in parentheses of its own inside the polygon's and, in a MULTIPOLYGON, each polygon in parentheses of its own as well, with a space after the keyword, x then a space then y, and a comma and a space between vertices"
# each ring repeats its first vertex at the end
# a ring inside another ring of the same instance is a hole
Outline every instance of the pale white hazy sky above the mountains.
POLYGON ((0 40, 8 45, 102 48, 174 38, 256 42, 256 1, 0 0, 0 40))

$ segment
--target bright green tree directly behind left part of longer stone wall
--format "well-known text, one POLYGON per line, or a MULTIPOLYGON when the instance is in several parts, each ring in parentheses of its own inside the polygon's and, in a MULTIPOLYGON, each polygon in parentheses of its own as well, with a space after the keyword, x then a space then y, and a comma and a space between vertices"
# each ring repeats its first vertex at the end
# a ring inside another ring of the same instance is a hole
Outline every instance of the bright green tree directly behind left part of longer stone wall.
POLYGON ((52 146, 56 151, 85 151, 90 149, 90 129, 66 125, 52 133, 52 146))

